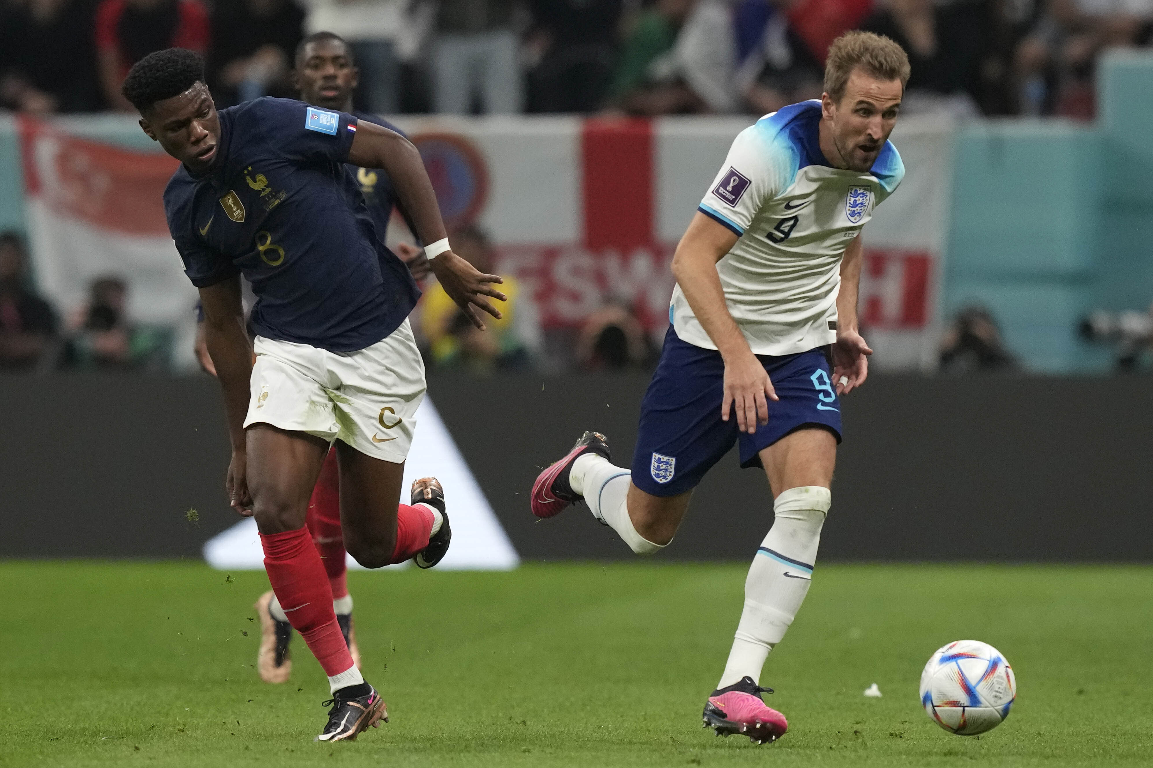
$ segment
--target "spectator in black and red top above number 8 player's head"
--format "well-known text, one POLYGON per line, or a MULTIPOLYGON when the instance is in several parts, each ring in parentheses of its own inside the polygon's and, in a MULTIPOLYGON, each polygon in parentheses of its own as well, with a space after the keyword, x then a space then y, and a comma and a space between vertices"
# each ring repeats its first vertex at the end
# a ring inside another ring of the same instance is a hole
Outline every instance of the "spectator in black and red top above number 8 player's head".
POLYGON ((96 50, 105 101, 135 113, 120 93, 128 69, 153 51, 171 47, 208 51, 209 15, 197 0, 101 0, 96 50))

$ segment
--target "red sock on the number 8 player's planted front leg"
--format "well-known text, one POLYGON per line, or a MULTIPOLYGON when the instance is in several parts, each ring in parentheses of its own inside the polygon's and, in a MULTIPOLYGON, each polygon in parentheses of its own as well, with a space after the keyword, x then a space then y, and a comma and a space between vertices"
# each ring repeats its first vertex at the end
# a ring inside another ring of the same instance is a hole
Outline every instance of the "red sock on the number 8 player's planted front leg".
POLYGON ((351 669, 353 657, 332 611, 332 590, 308 529, 262 533, 261 545, 272 591, 324 674, 332 677, 351 669))

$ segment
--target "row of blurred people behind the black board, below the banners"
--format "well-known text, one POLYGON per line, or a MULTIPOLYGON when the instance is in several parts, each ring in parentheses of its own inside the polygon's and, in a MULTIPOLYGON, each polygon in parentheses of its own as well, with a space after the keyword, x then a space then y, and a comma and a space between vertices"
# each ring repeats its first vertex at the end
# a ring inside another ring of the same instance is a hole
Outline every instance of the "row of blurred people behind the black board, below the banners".
MULTIPOLYGON (((482 272, 493 271, 495 251, 483 230, 469 226, 454 233, 453 238, 459 256, 482 272)), ((122 277, 93 280, 88 301, 67 318, 37 295, 28 277, 23 238, 13 231, 0 233, 0 373, 167 372, 180 367, 172 359, 174 352, 180 352, 174 350, 176 329, 133 322, 126 311, 128 286, 122 277)), ((489 319, 482 332, 473 327, 435 280, 424 280, 424 295, 412 321, 430 371, 483 375, 508 371, 647 371, 655 366, 661 340, 645 329, 627 302, 606 301, 568 335, 565 352, 557 359, 555 345, 551 353, 545 350, 545 334, 532 296, 512 275, 504 275, 504 281, 502 290, 508 297, 500 307, 504 317, 489 319)), ((862 330, 868 334, 867 327, 862 330)), ((1153 306, 1147 312, 1092 313, 1079 332, 1085 340, 1106 342, 1116 350, 1118 372, 1147 370, 1153 364, 1153 306)), ((183 351, 194 350, 199 366, 211 371, 199 334, 183 351)), ((941 374, 1018 370, 1016 356, 1007 349, 997 321, 986 307, 966 306, 942 329, 941 374)))

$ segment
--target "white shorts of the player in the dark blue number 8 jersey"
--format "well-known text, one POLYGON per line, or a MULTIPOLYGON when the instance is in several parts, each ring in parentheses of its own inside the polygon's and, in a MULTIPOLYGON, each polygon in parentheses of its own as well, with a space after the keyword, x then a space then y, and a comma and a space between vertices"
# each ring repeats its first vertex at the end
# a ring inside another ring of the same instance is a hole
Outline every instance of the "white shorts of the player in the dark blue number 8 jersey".
POLYGON ((402 463, 424 400, 424 362, 406 319, 355 352, 257 336, 244 426, 271 424, 340 440, 386 462, 402 463))

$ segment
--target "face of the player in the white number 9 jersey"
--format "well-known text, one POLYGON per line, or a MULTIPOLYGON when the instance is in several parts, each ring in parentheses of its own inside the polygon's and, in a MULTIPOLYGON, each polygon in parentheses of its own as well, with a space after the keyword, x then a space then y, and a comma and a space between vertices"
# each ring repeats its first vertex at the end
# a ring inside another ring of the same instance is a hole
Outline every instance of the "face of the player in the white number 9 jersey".
POLYGON ((850 170, 866 172, 876 162, 897 124, 903 91, 899 79, 875 79, 854 69, 839 102, 828 93, 822 97, 832 143, 850 170))

